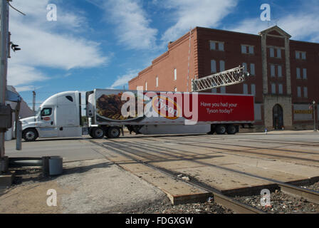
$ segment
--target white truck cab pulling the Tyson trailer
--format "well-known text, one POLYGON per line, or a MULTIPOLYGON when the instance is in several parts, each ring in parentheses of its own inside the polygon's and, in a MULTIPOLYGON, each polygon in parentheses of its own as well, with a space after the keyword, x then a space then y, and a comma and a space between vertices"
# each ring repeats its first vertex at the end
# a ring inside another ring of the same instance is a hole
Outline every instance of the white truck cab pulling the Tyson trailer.
POLYGON ((78 91, 57 93, 44 101, 35 116, 21 119, 22 136, 36 138, 80 137, 81 94, 78 91))

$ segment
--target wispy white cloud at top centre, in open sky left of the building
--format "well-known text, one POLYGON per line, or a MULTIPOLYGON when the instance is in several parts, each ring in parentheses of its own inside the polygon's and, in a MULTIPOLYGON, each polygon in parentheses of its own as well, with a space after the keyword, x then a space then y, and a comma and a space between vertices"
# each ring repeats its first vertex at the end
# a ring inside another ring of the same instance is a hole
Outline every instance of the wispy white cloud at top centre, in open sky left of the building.
POLYGON ((121 44, 137 50, 156 47, 157 29, 150 27, 139 0, 109 0, 103 8, 105 19, 115 24, 121 44))

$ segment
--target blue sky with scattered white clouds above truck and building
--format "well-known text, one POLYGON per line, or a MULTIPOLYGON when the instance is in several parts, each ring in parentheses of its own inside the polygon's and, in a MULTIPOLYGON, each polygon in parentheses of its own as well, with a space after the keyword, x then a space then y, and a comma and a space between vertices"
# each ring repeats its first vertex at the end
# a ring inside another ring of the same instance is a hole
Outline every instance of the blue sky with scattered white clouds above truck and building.
POLYGON ((32 107, 59 92, 128 88, 167 51, 167 43, 202 26, 257 34, 278 25, 293 40, 319 43, 318 0, 14 0, 10 9, 8 84, 32 107), (56 5, 56 21, 49 4, 56 5), (262 4, 271 21, 261 21, 262 4))

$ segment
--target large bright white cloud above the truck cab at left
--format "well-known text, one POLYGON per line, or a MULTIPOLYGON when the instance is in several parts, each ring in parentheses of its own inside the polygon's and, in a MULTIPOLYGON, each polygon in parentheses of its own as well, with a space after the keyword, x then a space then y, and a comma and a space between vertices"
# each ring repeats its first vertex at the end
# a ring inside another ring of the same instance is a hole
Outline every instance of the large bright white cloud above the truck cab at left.
POLYGON ((85 17, 63 9, 61 4, 57 8, 58 21, 47 21, 48 4, 48 0, 16 0, 14 6, 26 16, 10 11, 11 41, 19 44, 21 51, 11 53, 8 83, 23 90, 50 78, 38 67, 69 70, 108 61, 100 52, 99 43, 80 38, 79 33, 87 26, 85 17))

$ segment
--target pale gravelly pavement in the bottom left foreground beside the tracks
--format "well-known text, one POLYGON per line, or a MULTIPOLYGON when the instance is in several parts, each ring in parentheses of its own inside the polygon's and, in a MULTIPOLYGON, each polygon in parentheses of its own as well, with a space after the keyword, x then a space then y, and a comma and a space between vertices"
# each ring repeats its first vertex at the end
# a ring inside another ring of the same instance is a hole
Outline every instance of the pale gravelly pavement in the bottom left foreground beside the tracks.
POLYGON ((0 195, 0 213, 117 213, 147 207, 164 193, 109 160, 66 162, 63 175, 41 179, 26 176, 0 195), (50 180, 51 179, 51 180, 50 180), (48 207, 47 191, 57 192, 57 206, 48 207))

